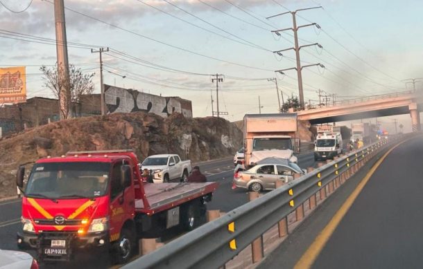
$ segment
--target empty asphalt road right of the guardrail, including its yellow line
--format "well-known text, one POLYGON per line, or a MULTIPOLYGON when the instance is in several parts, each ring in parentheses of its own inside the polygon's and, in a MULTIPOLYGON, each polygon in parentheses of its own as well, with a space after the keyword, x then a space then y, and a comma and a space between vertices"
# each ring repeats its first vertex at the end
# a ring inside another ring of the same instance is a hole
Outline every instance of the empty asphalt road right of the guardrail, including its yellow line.
POLYGON ((422 155, 420 136, 363 167, 259 268, 423 268, 422 155))

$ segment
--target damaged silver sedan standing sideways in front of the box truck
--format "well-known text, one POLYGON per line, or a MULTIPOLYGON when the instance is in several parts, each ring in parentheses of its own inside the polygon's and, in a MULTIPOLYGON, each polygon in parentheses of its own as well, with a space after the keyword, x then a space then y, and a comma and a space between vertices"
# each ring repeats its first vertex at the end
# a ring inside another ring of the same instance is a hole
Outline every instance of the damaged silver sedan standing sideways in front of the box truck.
POLYGON ((245 171, 238 165, 234 171, 232 189, 242 187, 250 192, 275 189, 277 180, 282 180, 284 183, 291 182, 294 180, 294 174, 306 174, 306 170, 286 159, 264 158, 245 171))

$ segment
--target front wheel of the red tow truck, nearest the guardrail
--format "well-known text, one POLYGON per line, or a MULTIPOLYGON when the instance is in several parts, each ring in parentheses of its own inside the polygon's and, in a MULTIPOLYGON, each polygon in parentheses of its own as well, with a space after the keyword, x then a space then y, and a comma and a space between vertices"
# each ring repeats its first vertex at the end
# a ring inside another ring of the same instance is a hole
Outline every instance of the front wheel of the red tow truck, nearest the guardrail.
POLYGON ((129 261, 134 249, 134 233, 123 228, 119 240, 114 242, 112 259, 115 264, 122 264, 129 261))

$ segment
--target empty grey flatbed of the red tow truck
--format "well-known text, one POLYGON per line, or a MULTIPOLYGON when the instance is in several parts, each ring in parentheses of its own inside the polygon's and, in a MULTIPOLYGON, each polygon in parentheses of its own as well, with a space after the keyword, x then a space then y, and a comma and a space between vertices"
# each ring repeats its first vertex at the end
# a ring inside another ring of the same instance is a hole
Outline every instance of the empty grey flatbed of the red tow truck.
POLYGON ((142 199, 135 199, 135 211, 153 213, 169 209, 186 201, 213 192, 218 183, 144 183, 150 207, 144 207, 142 199))

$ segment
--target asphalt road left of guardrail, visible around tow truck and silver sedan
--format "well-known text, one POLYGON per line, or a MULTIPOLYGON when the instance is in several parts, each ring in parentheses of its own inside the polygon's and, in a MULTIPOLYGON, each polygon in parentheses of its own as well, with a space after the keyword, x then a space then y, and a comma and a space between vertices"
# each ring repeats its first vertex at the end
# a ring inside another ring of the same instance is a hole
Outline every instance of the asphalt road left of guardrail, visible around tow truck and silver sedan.
MULTIPOLYGON (((300 167, 315 166, 313 153, 298 156, 300 167)), ((196 164, 200 171, 207 176, 208 181, 216 181, 219 187, 214 193, 211 203, 207 205, 209 210, 221 210, 228 212, 236 207, 248 203, 248 192, 246 189, 232 190, 232 178, 234 175, 234 164, 232 157, 220 160, 211 160, 196 164)), ((18 250, 16 244, 16 233, 21 229, 21 200, 12 199, 0 202, 0 249, 18 250)), ((25 250, 35 257, 35 251, 25 250)), ((57 265, 44 266, 42 268, 56 268, 57 265)), ((60 267, 62 267, 61 265, 60 267)), ((78 257, 76 263, 67 265, 67 268, 106 268, 110 266, 107 259, 96 259, 93 261, 91 253, 83 253, 78 257)))

